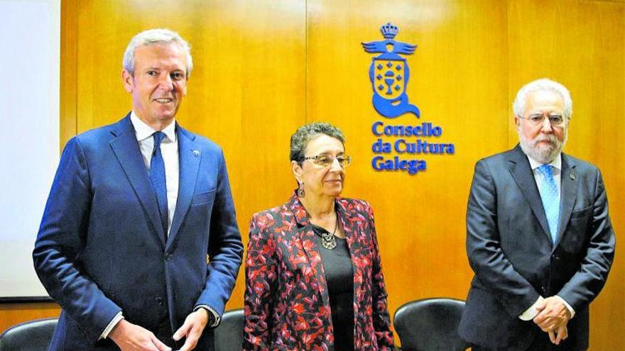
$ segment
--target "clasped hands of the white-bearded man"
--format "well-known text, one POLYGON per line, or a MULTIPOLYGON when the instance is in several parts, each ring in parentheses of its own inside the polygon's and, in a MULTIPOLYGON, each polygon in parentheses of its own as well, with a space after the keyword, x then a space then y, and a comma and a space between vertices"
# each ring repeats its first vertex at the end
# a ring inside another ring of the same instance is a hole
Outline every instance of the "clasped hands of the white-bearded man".
POLYGON ((545 333, 549 333, 549 339, 555 345, 568 337, 567 323, 571 318, 568 308, 557 296, 550 296, 536 306, 538 315, 534 317, 534 323, 545 333), (555 335, 557 333, 557 336, 555 335))

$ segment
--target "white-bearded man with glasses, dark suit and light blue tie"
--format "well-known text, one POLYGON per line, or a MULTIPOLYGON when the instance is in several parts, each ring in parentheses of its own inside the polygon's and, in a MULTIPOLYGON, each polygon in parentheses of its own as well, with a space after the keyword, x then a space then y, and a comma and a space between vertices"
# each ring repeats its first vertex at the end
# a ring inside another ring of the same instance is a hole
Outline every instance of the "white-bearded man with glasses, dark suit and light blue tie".
POLYGON ((475 165, 475 277, 459 333, 473 350, 587 350, 588 306, 614 259, 602 176, 562 153, 572 112, 562 84, 526 84, 513 110, 519 145, 475 165))

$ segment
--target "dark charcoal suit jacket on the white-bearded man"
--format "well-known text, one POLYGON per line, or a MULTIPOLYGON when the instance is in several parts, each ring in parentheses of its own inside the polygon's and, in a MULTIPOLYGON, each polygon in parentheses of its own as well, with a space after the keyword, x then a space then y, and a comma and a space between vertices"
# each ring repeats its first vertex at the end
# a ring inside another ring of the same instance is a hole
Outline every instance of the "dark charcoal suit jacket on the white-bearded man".
POLYGON ((558 295, 575 310, 558 350, 588 347, 588 305, 614 259, 614 231, 597 167, 562 154, 560 221, 552 243, 526 155, 480 160, 467 208, 467 253, 475 272, 460 322, 462 338, 489 348, 526 350, 538 333, 518 316, 538 296, 558 295))

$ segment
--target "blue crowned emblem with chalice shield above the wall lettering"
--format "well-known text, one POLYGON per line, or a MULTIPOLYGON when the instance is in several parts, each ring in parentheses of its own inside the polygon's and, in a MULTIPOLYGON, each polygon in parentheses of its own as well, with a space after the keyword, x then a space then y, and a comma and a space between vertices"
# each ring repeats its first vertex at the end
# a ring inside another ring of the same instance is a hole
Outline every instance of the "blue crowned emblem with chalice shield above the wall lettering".
POLYGON ((419 117, 419 108, 408 104, 406 86, 410 78, 410 69, 406 59, 400 56, 411 55, 417 45, 393 40, 399 28, 390 22, 381 26, 380 31, 385 40, 362 43, 366 52, 381 52, 381 55, 374 57, 369 67, 369 79, 374 89, 374 108, 388 118, 401 116, 403 113, 414 113, 419 117))

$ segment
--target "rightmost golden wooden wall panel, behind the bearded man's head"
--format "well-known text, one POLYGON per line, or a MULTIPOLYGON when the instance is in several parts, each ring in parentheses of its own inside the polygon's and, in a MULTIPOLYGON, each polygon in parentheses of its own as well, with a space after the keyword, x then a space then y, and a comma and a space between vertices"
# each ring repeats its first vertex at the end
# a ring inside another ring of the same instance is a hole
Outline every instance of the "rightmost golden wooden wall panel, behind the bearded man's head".
MULTIPOLYGON (((625 230, 625 4, 509 2, 510 99, 524 82, 538 77, 565 84, 573 100, 565 152, 602 170, 617 252, 607 284, 591 305, 590 346, 617 350, 622 343, 617 335, 625 328, 625 261, 619 254, 624 243, 619 234, 625 230)), ((509 145, 518 140, 512 127, 509 140, 509 145)))

